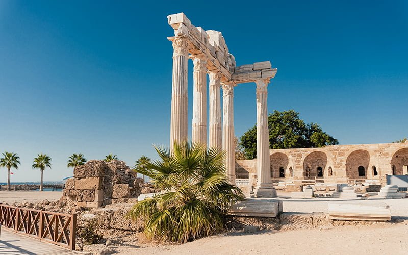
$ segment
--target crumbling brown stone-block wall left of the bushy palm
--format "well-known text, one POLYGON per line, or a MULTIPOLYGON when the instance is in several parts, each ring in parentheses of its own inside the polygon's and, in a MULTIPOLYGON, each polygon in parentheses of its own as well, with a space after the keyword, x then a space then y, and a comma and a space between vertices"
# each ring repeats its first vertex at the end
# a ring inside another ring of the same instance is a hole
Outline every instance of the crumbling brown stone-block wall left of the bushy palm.
POLYGON ((101 207, 130 199, 137 201, 142 190, 150 186, 119 160, 90 160, 75 167, 73 175, 65 183, 63 196, 81 207, 101 207))

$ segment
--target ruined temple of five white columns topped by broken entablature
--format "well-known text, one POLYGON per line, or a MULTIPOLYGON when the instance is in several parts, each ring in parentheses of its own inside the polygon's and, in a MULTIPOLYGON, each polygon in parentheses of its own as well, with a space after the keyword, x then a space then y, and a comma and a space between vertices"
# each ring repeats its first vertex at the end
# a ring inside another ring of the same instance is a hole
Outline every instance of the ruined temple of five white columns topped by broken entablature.
POLYGON ((234 88, 257 85, 257 197, 275 197, 269 161, 268 84, 276 68, 269 61, 236 66, 221 32, 195 27, 184 13, 169 15, 174 36, 171 97, 170 149, 174 142, 188 139, 188 60, 193 70, 192 141, 222 149, 226 153, 228 178, 235 184, 234 88), (209 74, 209 127, 207 127, 207 74, 209 74), (222 115, 221 115, 222 88, 222 115), (222 122, 221 122, 222 119, 222 122), (207 133, 209 139, 207 139, 207 133))

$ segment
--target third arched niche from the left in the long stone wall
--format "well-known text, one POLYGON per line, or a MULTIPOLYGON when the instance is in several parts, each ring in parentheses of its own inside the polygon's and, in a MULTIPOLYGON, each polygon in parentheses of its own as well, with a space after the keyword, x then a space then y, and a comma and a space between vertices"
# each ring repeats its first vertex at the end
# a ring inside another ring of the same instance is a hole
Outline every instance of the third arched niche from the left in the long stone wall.
POLYGON ((348 179, 367 179, 367 169, 370 164, 370 153, 365 149, 351 152, 346 160, 346 174, 348 179), (364 167, 364 176, 359 175, 359 169, 364 167))

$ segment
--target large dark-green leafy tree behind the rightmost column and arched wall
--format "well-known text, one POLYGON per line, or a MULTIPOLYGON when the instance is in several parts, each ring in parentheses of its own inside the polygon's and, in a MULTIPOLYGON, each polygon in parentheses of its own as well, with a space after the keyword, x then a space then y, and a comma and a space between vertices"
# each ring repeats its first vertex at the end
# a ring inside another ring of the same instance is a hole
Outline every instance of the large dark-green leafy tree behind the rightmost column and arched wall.
MULTIPOLYGON (((269 144, 271 149, 323 147, 339 144, 338 140, 323 132, 317 123, 305 124, 294 110, 274 111, 268 116, 269 144)), ((257 157, 257 126, 241 136, 241 146, 248 159, 257 157)))

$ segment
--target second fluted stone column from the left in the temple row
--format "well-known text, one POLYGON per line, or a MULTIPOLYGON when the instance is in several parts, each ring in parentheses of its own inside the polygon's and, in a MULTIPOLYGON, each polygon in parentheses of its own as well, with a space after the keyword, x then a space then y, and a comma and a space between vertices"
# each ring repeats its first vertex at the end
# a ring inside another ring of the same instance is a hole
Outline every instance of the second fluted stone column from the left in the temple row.
POLYGON ((194 56, 193 123, 191 138, 193 142, 207 146, 207 67, 206 60, 194 56))

